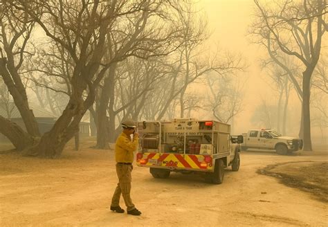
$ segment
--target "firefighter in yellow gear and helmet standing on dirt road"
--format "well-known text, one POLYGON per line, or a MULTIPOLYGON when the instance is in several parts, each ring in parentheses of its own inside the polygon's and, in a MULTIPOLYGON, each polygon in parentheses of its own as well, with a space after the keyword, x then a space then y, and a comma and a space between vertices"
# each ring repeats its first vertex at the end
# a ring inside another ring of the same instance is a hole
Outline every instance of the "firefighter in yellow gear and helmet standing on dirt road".
POLYGON ((120 195, 122 194, 128 215, 141 215, 130 197, 132 163, 134 161, 134 151, 137 149, 139 142, 139 134, 135 131, 135 128, 136 125, 133 120, 124 120, 122 122, 122 133, 118 136, 115 146, 118 185, 111 199, 111 210, 119 213, 125 211, 120 208, 120 195))

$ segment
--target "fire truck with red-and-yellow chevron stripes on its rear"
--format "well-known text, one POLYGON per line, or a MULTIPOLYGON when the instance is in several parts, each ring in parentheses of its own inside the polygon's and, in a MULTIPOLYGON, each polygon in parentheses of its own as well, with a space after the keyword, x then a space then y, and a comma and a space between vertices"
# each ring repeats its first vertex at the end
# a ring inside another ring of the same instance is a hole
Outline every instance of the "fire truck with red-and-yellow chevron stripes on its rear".
POLYGON ((220 184, 225 167, 239 170, 243 136, 231 136, 226 123, 192 118, 143 121, 137 129, 136 163, 149 167, 154 178, 167 178, 171 172, 199 173, 206 182, 220 184))

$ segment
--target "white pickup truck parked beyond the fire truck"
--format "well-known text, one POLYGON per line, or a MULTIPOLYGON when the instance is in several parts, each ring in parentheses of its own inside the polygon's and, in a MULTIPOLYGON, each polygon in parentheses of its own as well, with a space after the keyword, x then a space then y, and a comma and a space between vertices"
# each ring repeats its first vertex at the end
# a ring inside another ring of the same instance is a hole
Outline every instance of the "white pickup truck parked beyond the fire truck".
POLYGON ((282 136, 270 129, 253 129, 247 134, 243 134, 244 143, 242 150, 246 149, 269 149, 277 152, 277 154, 287 154, 302 149, 303 140, 290 136, 282 136))

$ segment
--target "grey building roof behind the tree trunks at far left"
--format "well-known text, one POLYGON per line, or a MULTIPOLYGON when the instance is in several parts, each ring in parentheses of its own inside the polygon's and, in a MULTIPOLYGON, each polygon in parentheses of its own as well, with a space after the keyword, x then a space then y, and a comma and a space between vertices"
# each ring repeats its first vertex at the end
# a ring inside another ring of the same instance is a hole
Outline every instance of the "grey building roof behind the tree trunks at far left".
MULTIPOLYGON (((33 110, 35 118, 57 118, 57 116, 50 111, 33 104, 30 104, 30 109, 33 110)), ((3 116, 3 118, 21 118, 21 114, 13 102, 9 102, 8 104, 0 102, 0 116, 3 116)))

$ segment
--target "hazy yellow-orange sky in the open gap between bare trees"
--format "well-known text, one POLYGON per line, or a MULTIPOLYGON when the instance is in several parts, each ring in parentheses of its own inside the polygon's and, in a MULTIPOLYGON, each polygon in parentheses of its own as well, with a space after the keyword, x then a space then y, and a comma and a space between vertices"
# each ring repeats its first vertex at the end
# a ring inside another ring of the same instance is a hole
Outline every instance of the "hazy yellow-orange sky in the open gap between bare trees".
MULTIPOLYGON (((211 42, 218 42, 222 49, 242 54, 249 65, 247 71, 239 75, 245 81, 244 111, 235 118, 235 133, 256 128, 256 125, 250 122, 255 106, 259 105, 262 99, 275 104, 277 98, 268 85, 270 79, 259 67, 259 57, 264 56, 266 52, 257 44, 250 44, 247 37, 248 26, 254 12, 254 1, 199 0, 198 4, 208 16, 212 30, 211 42)), ((295 111, 299 111, 298 100, 295 96, 292 96, 291 100, 294 100, 295 111)), ((298 129, 295 130, 296 133, 298 129)))

